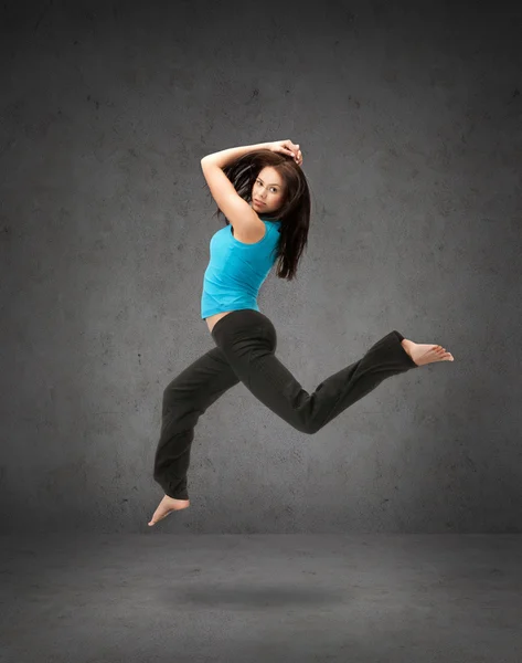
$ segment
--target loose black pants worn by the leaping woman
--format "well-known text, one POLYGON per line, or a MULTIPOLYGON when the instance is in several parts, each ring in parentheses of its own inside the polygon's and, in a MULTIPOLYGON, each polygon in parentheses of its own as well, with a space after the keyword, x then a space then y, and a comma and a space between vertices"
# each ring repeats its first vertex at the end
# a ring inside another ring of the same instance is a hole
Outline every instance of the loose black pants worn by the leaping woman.
POLYGON ((267 408, 301 433, 313 434, 386 378, 417 368, 391 332, 354 364, 305 391, 275 355, 274 325, 252 308, 234 311, 212 329, 216 345, 185 368, 163 392, 161 435, 153 477, 166 495, 189 499, 187 473, 201 414, 243 382, 267 408))

